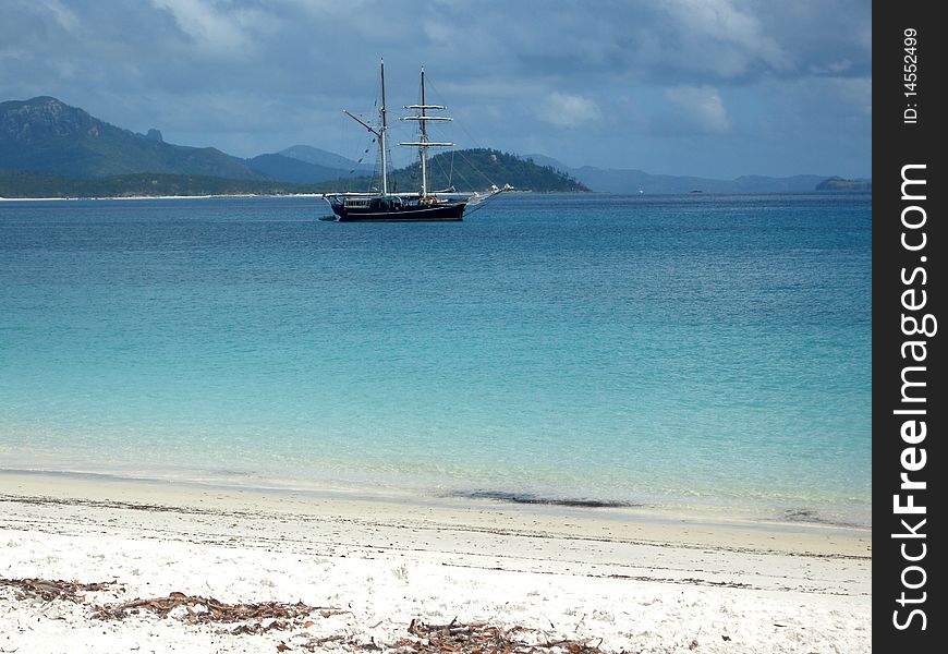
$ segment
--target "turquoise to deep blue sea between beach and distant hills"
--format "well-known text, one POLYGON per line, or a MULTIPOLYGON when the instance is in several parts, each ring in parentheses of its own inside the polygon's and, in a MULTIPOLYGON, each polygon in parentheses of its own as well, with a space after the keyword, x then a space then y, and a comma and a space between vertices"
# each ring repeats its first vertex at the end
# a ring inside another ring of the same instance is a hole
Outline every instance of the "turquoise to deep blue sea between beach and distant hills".
POLYGON ((0 468, 870 522, 870 195, 328 214, 0 203, 0 468))

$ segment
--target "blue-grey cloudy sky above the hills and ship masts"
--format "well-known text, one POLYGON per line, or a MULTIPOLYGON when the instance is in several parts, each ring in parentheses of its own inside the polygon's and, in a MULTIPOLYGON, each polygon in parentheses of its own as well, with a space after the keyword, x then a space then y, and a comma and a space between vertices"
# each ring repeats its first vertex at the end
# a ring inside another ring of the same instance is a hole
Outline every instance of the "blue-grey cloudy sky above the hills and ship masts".
POLYGON ((871 0, 3 0, 0 100, 242 157, 357 158, 389 106, 461 147, 730 179, 870 177, 871 0))

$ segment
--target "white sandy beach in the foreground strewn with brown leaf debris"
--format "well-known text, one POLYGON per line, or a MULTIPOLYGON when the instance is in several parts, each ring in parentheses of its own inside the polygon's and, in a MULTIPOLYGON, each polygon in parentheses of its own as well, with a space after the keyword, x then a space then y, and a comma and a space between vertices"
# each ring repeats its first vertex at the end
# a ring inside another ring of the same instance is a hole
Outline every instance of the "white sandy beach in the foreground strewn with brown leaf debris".
POLYGON ((2 580, 116 582, 78 602, 0 583, 0 653, 405 650, 428 642, 413 619, 609 652, 872 649, 854 528, 5 472, 0 553, 2 580), (171 593, 319 608, 241 634, 184 606, 93 617, 171 593))

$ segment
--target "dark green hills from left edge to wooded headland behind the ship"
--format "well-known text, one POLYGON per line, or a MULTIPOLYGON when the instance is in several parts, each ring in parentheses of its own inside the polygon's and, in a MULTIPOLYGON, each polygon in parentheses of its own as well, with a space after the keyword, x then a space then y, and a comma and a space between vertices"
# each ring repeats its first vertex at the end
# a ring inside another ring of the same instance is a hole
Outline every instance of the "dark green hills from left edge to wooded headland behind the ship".
MULTIPOLYGON (((587 191, 569 175, 500 150, 453 150, 450 157, 432 158, 433 186, 450 184, 439 177, 439 162, 445 161, 442 168, 457 171, 458 177, 466 172, 466 178, 476 179, 479 185, 469 183, 464 191, 489 187, 483 171, 475 177, 473 158, 482 159, 498 184, 587 191)), ((372 166, 305 145, 248 159, 212 147, 173 145, 156 129, 138 134, 51 96, 0 102, 0 194, 4 196, 313 193, 342 184, 370 186, 373 173, 372 166)), ((396 185, 402 180, 403 189, 416 189, 417 178, 417 162, 391 173, 396 185)))

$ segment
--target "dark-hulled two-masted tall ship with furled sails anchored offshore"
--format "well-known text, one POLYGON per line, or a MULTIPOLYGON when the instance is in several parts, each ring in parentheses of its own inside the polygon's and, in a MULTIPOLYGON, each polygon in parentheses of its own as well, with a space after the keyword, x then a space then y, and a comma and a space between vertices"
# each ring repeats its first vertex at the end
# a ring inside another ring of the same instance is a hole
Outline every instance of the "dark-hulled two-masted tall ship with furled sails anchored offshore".
POLYGON ((414 147, 418 150, 421 187, 417 191, 404 193, 390 191, 387 141, 389 117, 385 98, 385 60, 379 64, 379 75, 381 78, 379 123, 373 125, 350 111, 343 109, 343 112, 368 130, 378 143, 381 186, 366 193, 324 193, 323 197, 332 207, 336 220, 340 222, 457 221, 462 219, 464 209, 469 206, 477 205, 488 197, 510 190, 510 185, 499 189, 496 184, 491 184, 490 189, 483 193, 459 193, 453 187, 437 191, 429 187, 428 149, 453 147, 454 144, 432 141, 428 137, 428 121, 451 121, 453 119, 440 113, 447 110, 447 107, 427 102, 425 98, 425 69, 422 68, 421 101, 417 105, 405 106, 404 109, 412 111, 413 114, 401 119, 417 122, 417 141, 399 143, 401 146, 414 147))

